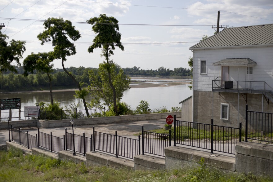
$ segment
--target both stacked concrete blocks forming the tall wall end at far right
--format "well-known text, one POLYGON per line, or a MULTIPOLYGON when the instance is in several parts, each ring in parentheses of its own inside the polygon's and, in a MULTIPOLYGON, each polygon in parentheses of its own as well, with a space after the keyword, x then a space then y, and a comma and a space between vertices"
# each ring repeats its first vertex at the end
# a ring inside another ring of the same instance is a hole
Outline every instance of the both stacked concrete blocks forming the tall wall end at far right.
POLYGON ((236 145, 236 171, 273 177, 273 146, 251 142, 236 145))

